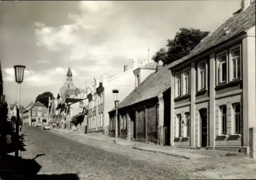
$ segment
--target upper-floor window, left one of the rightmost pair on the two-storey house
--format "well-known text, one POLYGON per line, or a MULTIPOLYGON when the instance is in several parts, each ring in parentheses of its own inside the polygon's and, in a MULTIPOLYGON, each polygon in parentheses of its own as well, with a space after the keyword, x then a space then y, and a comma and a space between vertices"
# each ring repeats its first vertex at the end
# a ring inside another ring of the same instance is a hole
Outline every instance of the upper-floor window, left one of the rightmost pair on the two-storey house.
POLYGON ((218 78, 219 84, 227 81, 227 54, 221 54, 218 56, 218 78))

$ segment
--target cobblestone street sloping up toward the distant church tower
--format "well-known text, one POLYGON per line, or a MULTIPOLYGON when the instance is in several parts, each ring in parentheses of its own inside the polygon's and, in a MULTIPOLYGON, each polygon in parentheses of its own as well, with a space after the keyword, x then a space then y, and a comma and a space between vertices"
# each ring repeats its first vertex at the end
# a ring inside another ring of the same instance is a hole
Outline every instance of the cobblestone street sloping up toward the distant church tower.
MULTIPOLYGON (((227 169, 223 168, 227 166, 224 160, 222 164, 218 164, 221 161, 217 159, 190 161, 38 127, 24 127, 24 131, 27 151, 22 152, 23 158, 45 154, 35 160, 41 166, 38 174, 73 173, 80 179, 233 178, 229 174, 223 175, 227 169), (213 173, 215 171, 219 173, 213 173)), ((238 161, 251 163, 230 158, 230 167, 236 167, 238 161)))

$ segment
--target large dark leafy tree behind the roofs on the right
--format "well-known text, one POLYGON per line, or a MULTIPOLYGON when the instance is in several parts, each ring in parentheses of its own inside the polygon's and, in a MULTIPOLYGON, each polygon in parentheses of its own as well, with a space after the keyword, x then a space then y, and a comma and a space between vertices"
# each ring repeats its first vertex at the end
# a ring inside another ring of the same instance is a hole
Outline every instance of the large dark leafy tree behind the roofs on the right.
POLYGON ((167 39, 167 50, 161 48, 152 59, 156 62, 162 60, 163 64, 169 64, 170 62, 178 60, 193 50, 208 34, 209 32, 200 31, 199 29, 180 28, 174 39, 167 39))

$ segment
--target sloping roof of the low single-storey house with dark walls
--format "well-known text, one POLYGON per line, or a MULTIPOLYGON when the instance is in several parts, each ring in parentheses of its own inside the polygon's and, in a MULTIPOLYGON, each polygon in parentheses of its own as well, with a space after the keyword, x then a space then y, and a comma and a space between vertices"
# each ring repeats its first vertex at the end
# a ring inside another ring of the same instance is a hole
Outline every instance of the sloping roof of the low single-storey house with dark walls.
POLYGON ((168 88, 170 88, 170 71, 168 70, 168 66, 164 66, 156 73, 150 74, 134 91, 126 96, 120 102, 119 108, 155 98, 168 88))

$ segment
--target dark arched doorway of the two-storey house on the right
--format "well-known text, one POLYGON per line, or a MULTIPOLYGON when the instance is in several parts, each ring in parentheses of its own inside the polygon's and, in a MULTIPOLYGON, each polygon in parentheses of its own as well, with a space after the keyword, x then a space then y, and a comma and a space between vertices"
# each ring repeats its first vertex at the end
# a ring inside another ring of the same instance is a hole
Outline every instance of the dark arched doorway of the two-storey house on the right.
POLYGON ((201 118, 201 147, 207 146, 207 108, 203 108, 199 110, 200 118, 201 118))

